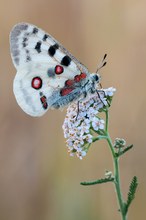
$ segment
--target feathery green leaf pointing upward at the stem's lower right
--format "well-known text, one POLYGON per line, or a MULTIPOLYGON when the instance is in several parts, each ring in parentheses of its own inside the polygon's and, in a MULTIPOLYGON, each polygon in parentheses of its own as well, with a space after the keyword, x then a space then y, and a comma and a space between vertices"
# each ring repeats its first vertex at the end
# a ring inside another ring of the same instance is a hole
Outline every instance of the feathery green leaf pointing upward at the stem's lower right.
POLYGON ((128 212, 129 206, 131 205, 132 201, 135 198, 137 186, 138 186, 138 180, 137 180, 137 177, 134 176, 129 186, 127 202, 125 204, 125 213, 128 212))

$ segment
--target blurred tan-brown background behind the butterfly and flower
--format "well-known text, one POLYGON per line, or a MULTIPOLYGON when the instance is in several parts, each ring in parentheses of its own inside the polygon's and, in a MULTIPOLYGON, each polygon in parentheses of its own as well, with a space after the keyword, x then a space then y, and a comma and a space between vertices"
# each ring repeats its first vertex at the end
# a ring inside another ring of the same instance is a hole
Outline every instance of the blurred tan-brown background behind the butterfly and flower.
POLYGON ((123 156, 122 190, 138 176, 139 188, 129 219, 145 219, 146 209, 146 1, 1 0, 0 1, 0 219, 120 219, 112 184, 79 183, 112 170, 107 144, 96 143, 81 161, 70 157, 62 124, 64 111, 41 118, 26 115, 13 91, 15 68, 9 33, 30 22, 60 41, 91 72, 104 53, 103 87, 117 92, 110 109, 110 132, 134 149, 123 156))

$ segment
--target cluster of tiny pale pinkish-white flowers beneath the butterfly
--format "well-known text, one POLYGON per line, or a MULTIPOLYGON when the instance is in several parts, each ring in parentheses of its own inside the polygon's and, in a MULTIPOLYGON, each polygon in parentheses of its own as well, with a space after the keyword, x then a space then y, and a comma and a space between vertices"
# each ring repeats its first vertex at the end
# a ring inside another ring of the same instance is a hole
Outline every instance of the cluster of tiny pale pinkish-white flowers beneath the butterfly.
POLYGON ((104 129, 105 122, 98 117, 98 111, 108 105, 108 97, 112 97, 114 92, 112 87, 101 89, 97 94, 68 107, 62 128, 71 156, 76 154, 80 159, 86 156, 93 142, 92 133, 104 129))

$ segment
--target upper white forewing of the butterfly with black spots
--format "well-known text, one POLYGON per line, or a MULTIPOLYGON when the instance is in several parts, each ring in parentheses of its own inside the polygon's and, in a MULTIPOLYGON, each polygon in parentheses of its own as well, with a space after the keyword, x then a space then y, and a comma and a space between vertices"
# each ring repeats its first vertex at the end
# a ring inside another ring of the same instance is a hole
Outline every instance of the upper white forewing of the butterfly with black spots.
POLYGON ((43 60, 49 65, 53 59, 75 73, 80 71, 88 74, 87 68, 57 40, 32 24, 14 26, 10 34, 10 47, 16 69, 33 61, 40 63, 43 60))

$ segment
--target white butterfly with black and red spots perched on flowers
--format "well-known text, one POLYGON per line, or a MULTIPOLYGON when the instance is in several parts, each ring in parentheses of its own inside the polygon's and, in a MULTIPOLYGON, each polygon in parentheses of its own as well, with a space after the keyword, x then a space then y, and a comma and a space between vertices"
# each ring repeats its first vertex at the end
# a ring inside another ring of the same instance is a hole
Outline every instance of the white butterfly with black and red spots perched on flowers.
POLYGON ((10 51, 17 70, 14 95, 31 116, 42 116, 48 109, 62 108, 98 92, 100 75, 90 73, 57 40, 32 24, 13 27, 10 51))

